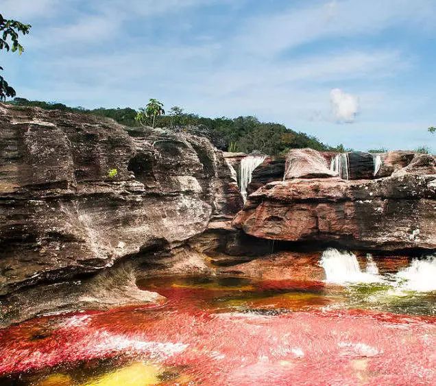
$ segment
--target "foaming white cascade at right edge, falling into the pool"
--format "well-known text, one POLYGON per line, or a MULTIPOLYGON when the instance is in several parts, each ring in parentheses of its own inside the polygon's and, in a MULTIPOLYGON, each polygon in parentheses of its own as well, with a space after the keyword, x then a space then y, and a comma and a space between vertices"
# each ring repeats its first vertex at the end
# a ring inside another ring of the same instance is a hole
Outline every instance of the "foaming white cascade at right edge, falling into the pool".
POLYGON ((436 291, 436 256, 414 259, 411 265, 396 274, 400 289, 409 291, 436 291))

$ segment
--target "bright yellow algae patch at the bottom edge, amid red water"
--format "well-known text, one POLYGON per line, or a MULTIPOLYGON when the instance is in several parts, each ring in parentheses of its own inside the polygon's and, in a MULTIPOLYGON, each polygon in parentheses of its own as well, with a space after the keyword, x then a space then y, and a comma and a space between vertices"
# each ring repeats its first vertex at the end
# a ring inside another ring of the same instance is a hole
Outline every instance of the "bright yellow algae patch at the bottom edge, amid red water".
POLYGON ((158 385, 158 378, 162 370, 149 363, 132 363, 127 367, 105 374, 83 386, 145 386, 158 385))

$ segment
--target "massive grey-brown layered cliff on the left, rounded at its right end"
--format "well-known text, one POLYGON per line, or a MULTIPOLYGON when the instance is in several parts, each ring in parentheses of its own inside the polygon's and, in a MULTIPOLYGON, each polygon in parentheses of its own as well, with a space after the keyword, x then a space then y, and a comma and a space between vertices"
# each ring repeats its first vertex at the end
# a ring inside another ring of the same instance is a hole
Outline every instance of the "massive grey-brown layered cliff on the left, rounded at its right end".
POLYGON ((0 295, 171 250, 241 206, 207 138, 0 104, 0 295))

